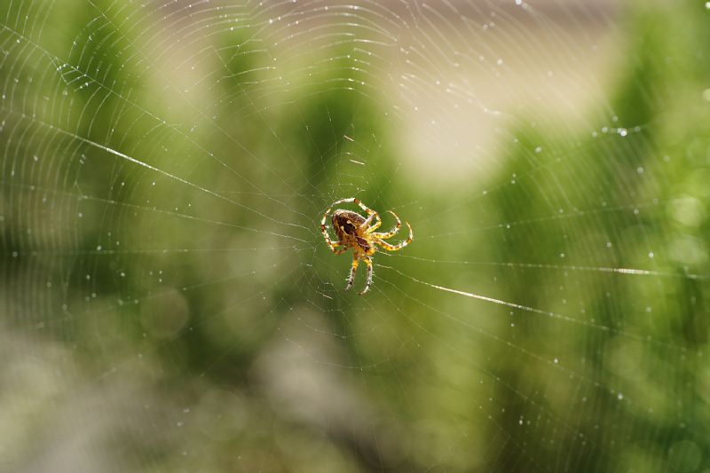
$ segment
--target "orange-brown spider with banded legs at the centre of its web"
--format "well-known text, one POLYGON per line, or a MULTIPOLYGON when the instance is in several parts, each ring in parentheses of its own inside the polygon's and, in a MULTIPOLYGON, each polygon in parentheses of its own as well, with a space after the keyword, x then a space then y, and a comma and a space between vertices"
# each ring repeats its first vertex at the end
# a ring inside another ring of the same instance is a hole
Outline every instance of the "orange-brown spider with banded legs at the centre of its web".
POLYGON ((330 248, 335 255, 342 255, 349 248, 352 248, 353 250, 352 268, 345 290, 352 288, 359 260, 363 260, 365 261, 365 264, 367 264, 367 284, 365 285, 365 289, 363 289, 359 294, 362 296, 370 290, 370 286, 372 285, 372 257, 375 255, 375 251, 377 250, 375 245, 380 245, 388 251, 398 251, 405 248, 406 245, 412 242, 414 235, 412 234, 412 225, 409 225, 409 222, 405 222, 406 226, 409 228, 409 238, 404 241, 400 241, 397 245, 390 245, 390 243, 384 241, 396 235, 399 228, 402 226, 397 214, 391 210, 387 211, 390 212, 395 219, 397 219, 397 225, 395 225, 395 227, 389 232, 385 233, 375 232, 380 225, 383 225, 380 215, 375 212, 375 210, 369 209, 367 205, 358 199, 352 197, 350 199, 341 199, 340 201, 333 202, 326 210, 326 213, 323 214, 323 218, 320 220, 320 231, 323 233, 323 238, 326 239, 328 248, 330 248), (335 212, 333 212, 333 217, 331 217, 333 230, 335 230, 335 235, 337 236, 337 241, 333 241, 327 233, 326 218, 336 205, 342 203, 358 204, 359 208, 365 210, 367 213, 367 218, 362 217, 359 213, 352 212, 351 210, 336 209, 335 212), (373 220, 375 220, 375 224, 370 225, 373 220))

